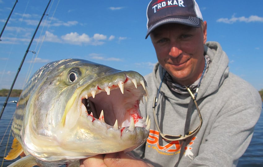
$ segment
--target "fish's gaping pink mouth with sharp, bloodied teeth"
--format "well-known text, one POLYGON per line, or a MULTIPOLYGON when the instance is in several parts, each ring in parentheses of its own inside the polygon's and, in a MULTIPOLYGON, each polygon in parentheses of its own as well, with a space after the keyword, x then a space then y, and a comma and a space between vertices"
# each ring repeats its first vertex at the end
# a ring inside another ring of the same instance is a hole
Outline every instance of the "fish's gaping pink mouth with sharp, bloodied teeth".
POLYGON ((138 127, 149 131, 150 120, 148 116, 143 118, 139 109, 143 96, 146 101, 148 98, 147 83, 143 77, 131 78, 128 74, 124 79, 85 88, 80 95, 81 113, 85 113, 92 122, 105 123, 107 129, 122 132, 125 128, 134 131, 138 127))

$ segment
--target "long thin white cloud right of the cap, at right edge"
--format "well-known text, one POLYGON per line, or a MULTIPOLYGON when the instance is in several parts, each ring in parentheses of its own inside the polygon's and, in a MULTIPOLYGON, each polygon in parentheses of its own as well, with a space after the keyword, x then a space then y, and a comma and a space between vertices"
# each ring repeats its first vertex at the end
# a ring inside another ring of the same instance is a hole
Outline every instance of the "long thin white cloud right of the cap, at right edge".
POLYGON ((248 18, 242 16, 242 17, 235 17, 235 15, 232 15, 231 19, 228 18, 220 18, 217 20, 217 22, 221 23, 227 23, 227 24, 233 24, 235 22, 245 22, 245 23, 250 23, 250 22, 263 22, 263 17, 259 17, 257 15, 251 15, 248 18))

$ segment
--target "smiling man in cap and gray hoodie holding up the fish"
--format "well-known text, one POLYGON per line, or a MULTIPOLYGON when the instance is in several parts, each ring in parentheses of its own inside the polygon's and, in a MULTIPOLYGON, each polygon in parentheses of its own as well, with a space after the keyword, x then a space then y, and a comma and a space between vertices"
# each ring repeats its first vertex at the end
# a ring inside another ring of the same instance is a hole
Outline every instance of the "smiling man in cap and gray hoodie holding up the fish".
POLYGON ((195 0, 152 0, 147 18, 158 63, 145 77, 149 100, 140 106, 154 121, 146 143, 133 151, 143 161, 120 152, 84 164, 236 166, 261 113, 259 93, 229 72, 217 42, 206 42, 195 0))

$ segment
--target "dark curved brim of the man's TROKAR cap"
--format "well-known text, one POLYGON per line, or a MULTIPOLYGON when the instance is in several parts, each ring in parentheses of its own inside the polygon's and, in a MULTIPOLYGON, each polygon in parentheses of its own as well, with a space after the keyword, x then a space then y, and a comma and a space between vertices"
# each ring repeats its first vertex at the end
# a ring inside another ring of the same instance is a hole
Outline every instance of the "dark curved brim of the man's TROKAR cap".
POLYGON ((189 16, 187 19, 183 18, 166 18, 163 20, 159 20, 157 23, 153 24, 151 27, 148 28, 145 39, 149 36, 149 34, 157 27, 163 25, 163 24, 169 24, 169 23, 178 23, 178 24, 184 24, 189 25, 192 27, 201 27, 201 19, 198 17, 189 16))

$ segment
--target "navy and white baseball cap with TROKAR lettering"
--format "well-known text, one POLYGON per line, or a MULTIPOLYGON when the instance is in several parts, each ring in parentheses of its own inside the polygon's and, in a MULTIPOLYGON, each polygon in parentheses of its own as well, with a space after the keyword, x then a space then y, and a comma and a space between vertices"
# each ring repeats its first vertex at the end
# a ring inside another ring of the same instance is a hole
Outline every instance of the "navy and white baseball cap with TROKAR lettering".
POLYGON ((195 0, 152 0, 147 7, 147 34, 160 25, 179 23, 201 27, 201 11, 195 0))

